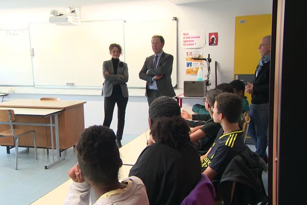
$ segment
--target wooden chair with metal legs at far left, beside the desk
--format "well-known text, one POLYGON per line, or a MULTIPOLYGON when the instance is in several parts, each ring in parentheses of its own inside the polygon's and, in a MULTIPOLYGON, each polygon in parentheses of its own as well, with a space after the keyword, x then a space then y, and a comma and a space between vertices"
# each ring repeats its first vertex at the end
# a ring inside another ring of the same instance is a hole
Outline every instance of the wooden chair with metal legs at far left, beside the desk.
POLYGON ((34 139, 34 153, 35 153, 35 159, 37 159, 37 151, 36 151, 36 135, 35 131, 26 131, 22 129, 15 129, 13 122, 15 121, 15 114, 13 110, 0 110, 0 121, 3 122, 9 122, 10 128, 8 130, 0 132, 0 137, 8 137, 13 136, 14 142, 15 142, 15 170, 18 168, 18 141, 19 137, 22 135, 26 135, 28 133, 33 134, 34 139))

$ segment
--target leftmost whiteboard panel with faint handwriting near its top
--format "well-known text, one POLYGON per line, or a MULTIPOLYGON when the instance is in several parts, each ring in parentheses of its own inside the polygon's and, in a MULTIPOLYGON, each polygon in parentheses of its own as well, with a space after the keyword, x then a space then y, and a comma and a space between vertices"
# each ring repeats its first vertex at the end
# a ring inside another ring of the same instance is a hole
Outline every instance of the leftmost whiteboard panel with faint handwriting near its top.
POLYGON ((0 25, 0 85, 33 86, 28 25, 0 25))

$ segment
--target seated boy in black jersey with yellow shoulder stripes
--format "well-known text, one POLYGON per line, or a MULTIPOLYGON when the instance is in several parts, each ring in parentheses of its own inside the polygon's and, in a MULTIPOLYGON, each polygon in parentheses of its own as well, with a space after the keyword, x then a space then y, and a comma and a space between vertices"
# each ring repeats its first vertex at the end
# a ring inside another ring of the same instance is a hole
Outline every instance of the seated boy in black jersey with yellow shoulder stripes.
MULTIPOLYGON (((220 123, 222 128, 210 150, 201 156, 201 161, 203 173, 211 181, 218 181, 232 158, 246 147, 243 131, 238 125, 242 100, 234 93, 224 92, 216 96, 211 109, 214 122, 220 123)), ((216 187, 216 183, 213 185, 216 187)))

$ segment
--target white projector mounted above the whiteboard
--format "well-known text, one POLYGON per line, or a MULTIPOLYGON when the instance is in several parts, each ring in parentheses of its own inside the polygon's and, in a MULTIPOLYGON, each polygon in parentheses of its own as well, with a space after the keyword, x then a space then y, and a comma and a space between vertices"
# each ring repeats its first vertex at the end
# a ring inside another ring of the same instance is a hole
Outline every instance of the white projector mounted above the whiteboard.
POLYGON ((53 16, 49 17, 49 23, 69 26, 69 25, 80 25, 80 16, 76 15, 76 10, 71 8, 71 13, 59 12, 58 10, 51 10, 50 14, 53 16))

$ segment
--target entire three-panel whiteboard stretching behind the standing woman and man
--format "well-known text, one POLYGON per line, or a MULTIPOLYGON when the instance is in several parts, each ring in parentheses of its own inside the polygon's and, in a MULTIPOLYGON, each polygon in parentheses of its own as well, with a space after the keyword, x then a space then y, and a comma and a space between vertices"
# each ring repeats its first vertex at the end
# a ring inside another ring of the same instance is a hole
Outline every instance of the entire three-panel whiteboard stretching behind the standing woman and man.
POLYGON ((18 36, 0 32, 0 85, 102 88, 102 64, 111 59, 109 45, 117 43, 128 65, 128 87, 145 88, 139 72, 153 54, 151 37, 156 34, 165 38, 163 50, 174 56, 171 78, 177 84, 177 21, 171 18, 93 20, 80 26, 30 23, 22 31, 18 36))

